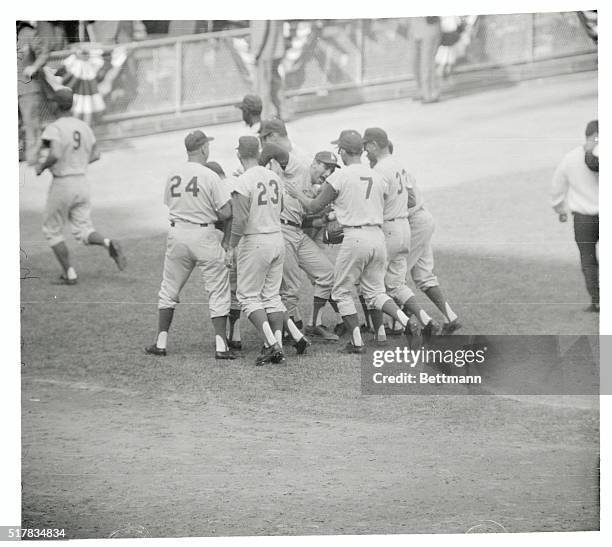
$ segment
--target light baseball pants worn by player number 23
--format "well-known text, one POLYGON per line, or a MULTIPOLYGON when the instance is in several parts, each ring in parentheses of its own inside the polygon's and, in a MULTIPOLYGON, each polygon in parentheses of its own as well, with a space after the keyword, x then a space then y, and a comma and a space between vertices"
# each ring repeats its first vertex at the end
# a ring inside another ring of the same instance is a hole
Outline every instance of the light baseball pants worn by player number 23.
POLYGON ((242 311, 284 312, 280 297, 285 242, 280 232, 245 235, 237 248, 238 288, 242 311))

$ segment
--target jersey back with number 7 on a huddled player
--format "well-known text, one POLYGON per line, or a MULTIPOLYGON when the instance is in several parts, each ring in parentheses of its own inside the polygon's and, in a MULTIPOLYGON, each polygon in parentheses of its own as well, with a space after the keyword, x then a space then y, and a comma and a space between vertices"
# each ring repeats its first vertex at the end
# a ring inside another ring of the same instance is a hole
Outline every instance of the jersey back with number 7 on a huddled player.
POLYGON ((340 224, 382 225, 386 184, 380 173, 362 163, 351 164, 327 181, 338 193, 334 203, 340 224))

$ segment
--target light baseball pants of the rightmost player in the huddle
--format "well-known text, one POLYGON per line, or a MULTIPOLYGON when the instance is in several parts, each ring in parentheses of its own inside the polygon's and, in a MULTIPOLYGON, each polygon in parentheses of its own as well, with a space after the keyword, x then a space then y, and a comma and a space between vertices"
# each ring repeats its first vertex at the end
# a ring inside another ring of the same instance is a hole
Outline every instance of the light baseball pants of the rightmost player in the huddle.
MULTIPOLYGON (((435 229, 433 216, 421 208, 410 217, 410 253, 407 268, 418 289, 424 291, 439 285, 433 273, 434 257, 431 238, 435 229)), ((412 296, 412 295, 411 295, 412 296)))

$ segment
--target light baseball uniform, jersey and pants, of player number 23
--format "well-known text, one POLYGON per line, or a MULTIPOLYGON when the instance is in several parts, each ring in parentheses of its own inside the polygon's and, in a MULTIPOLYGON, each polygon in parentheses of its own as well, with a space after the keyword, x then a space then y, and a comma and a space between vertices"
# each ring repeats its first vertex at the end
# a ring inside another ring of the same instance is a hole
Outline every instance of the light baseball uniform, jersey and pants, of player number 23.
POLYGON ((247 316, 259 309, 284 312, 279 294, 285 254, 280 223, 283 182, 272 171, 255 166, 238 177, 235 192, 249 201, 237 247, 238 301, 247 316))

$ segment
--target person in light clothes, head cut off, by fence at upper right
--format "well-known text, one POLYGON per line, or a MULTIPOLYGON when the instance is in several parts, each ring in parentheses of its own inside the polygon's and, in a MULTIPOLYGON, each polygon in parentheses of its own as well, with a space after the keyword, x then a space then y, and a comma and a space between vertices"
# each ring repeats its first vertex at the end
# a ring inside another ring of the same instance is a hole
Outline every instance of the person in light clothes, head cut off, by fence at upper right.
POLYGON ((423 104, 440 99, 436 74, 436 52, 442 39, 439 17, 414 17, 410 20, 413 44, 413 75, 417 85, 416 100, 423 104))

